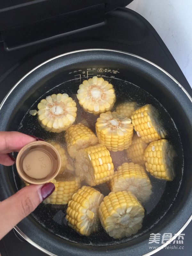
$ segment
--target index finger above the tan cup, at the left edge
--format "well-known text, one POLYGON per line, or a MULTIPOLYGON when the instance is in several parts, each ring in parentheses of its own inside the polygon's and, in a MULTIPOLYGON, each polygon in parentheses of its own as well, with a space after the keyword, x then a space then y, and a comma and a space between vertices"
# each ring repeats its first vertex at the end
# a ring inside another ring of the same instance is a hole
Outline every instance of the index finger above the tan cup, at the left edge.
POLYGON ((0 132, 0 153, 19 152, 22 147, 33 141, 36 139, 21 132, 0 132))

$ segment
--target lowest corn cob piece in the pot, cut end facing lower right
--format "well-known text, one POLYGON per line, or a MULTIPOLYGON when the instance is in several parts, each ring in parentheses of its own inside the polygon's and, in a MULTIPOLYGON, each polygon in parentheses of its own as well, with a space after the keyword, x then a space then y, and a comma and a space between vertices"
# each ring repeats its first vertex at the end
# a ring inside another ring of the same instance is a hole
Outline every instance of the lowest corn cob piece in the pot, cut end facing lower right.
POLYGON ((103 228, 113 238, 137 233, 142 227, 144 209, 130 191, 110 192, 99 207, 103 228))

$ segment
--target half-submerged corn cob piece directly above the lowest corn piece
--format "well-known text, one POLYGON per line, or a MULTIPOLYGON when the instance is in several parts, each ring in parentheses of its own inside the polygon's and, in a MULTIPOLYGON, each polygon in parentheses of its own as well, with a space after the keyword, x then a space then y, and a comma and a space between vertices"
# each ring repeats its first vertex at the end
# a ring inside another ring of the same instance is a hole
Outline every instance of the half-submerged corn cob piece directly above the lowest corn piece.
POLYGON ((151 182, 145 169, 139 164, 124 163, 117 168, 110 181, 111 191, 131 191, 138 200, 144 202, 149 199, 151 182))

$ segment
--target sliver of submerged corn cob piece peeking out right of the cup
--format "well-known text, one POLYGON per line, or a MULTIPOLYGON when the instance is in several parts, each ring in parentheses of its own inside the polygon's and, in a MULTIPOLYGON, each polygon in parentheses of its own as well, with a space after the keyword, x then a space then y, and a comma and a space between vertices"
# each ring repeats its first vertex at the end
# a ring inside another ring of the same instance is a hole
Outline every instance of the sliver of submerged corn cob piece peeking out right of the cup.
POLYGON ((59 143, 54 142, 52 140, 47 140, 47 142, 52 144, 57 149, 57 151, 60 154, 60 157, 61 157, 61 168, 60 168, 59 174, 64 172, 64 171, 66 171, 66 170, 73 171, 74 168, 73 168, 73 166, 71 166, 68 163, 67 156, 66 156, 66 153, 65 153, 65 149, 63 147, 61 147, 59 143))

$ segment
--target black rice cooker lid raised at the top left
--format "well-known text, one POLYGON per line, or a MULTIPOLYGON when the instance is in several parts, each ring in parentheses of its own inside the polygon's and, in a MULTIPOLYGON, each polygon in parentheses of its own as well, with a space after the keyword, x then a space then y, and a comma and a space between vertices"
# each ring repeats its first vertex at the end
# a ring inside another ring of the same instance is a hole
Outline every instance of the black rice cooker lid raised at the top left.
POLYGON ((41 42, 105 21, 105 14, 133 0, 0 1, 0 34, 5 48, 41 42))

